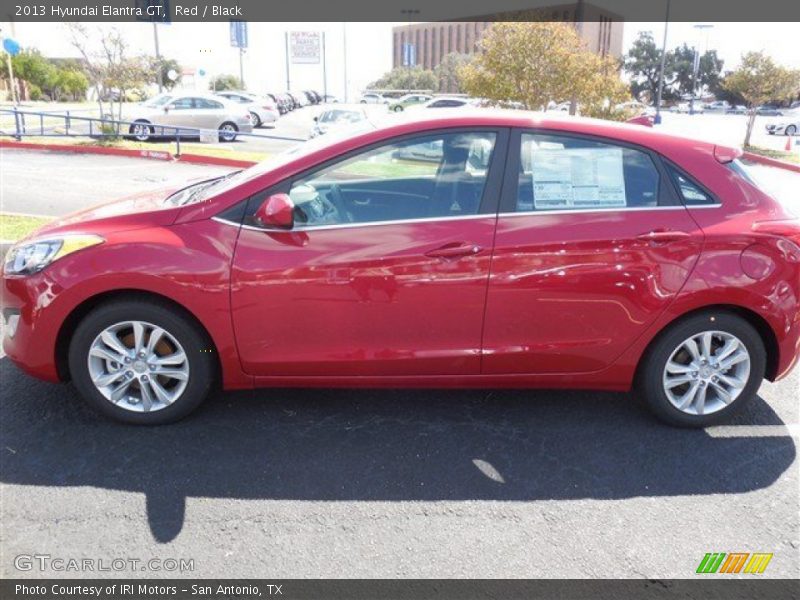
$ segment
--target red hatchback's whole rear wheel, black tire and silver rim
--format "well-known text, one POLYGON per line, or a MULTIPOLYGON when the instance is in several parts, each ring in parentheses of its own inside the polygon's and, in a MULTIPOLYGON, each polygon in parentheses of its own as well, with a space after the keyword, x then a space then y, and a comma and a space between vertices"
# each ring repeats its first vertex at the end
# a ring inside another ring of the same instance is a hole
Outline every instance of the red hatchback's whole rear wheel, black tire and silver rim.
POLYGON ((704 312, 668 329, 648 350, 637 389, 662 420, 681 427, 723 421, 755 397, 766 368, 758 332, 727 312, 704 312))

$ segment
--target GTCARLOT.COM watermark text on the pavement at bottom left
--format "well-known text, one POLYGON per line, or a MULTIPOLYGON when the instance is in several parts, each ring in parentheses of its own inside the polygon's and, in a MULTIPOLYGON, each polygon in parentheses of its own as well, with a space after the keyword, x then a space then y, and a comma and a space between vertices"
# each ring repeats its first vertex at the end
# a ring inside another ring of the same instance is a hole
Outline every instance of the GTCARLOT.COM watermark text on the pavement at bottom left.
POLYGON ((14 557, 14 568, 18 571, 45 572, 142 572, 191 573, 193 558, 87 558, 64 557, 50 554, 18 554, 14 557))

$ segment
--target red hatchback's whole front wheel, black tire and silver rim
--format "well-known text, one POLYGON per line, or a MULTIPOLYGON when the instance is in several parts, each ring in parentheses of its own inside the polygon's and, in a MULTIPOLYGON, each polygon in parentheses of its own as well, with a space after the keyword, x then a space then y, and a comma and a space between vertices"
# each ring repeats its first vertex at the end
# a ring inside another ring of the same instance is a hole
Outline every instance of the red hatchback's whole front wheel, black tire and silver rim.
POLYGON ((177 421, 208 395, 215 372, 200 328, 155 302, 103 304, 78 325, 69 347, 72 381, 94 408, 118 421, 177 421))

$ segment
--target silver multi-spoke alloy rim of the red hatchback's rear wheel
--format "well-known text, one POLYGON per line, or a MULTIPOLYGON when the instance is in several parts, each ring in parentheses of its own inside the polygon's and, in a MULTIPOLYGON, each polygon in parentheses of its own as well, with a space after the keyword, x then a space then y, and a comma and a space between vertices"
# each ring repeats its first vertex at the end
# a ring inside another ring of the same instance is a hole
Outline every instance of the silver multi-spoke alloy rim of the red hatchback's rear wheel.
POLYGON ((709 415, 730 405, 750 378, 750 353, 735 335, 703 331, 687 338, 664 367, 670 403, 690 415, 709 415))

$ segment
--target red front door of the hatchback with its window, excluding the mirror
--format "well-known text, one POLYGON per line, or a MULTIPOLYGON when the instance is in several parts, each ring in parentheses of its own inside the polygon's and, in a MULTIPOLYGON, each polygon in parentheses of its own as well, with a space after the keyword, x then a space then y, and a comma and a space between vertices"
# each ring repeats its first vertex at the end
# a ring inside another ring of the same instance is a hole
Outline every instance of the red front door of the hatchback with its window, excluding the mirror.
POLYGON ((244 369, 479 373, 506 139, 446 130, 379 144, 287 182, 293 230, 246 217, 232 271, 244 369))

